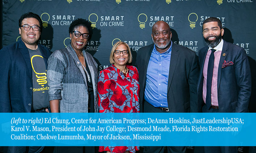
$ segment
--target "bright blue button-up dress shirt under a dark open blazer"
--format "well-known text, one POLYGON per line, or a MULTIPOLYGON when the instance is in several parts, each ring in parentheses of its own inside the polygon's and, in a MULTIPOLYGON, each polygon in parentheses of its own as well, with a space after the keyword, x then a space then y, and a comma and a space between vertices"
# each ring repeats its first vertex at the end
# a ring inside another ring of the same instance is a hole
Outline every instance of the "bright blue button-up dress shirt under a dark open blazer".
POLYGON ((165 53, 160 54, 154 45, 150 55, 144 99, 154 107, 168 107, 167 86, 171 59, 171 46, 165 53))

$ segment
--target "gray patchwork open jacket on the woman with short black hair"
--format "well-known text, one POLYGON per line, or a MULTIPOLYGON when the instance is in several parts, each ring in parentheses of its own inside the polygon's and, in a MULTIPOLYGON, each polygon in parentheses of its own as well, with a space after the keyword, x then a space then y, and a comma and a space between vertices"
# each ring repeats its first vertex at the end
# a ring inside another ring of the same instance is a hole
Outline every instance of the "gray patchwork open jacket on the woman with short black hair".
MULTIPOLYGON (((91 72, 94 93, 94 110, 98 112, 97 63, 85 50, 82 51, 91 72)), ((56 50, 48 59, 47 81, 49 100, 60 99, 59 112, 88 112, 88 86, 86 75, 76 52, 67 48, 56 50)))

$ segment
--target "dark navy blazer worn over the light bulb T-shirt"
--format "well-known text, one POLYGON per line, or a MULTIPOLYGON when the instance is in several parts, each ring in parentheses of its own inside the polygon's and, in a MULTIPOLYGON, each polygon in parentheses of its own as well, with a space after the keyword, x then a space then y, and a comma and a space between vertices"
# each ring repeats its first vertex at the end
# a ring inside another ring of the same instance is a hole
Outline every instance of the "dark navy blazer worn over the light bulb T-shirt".
MULTIPOLYGON (((51 52, 38 44, 44 63, 51 52)), ((22 40, 0 50, 0 112, 30 113, 33 94, 29 51, 22 40)), ((48 91, 47 91, 48 92, 48 91)))

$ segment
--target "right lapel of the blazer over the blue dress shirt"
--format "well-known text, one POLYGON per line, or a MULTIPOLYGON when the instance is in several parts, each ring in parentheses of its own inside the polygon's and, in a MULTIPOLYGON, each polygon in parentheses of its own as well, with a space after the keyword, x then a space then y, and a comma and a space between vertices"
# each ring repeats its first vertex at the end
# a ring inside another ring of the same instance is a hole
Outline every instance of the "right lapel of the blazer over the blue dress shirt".
POLYGON ((176 64, 179 58, 179 52, 176 44, 172 43, 172 50, 171 50, 171 59, 170 59, 170 68, 169 68, 169 76, 168 76, 168 86, 167 86, 167 93, 170 90, 171 81, 173 78, 173 74, 176 68, 176 64))

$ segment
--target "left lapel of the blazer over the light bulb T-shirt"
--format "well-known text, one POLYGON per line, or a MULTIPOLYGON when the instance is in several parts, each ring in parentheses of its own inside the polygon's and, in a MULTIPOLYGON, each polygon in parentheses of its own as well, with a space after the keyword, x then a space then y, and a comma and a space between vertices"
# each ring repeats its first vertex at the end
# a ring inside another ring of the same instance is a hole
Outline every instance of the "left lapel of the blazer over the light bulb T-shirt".
POLYGON ((24 58, 24 60, 26 62, 27 69, 29 70, 29 74, 30 74, 29 76, 32 79, 32 66, 31 66, 31 62, 30 62, 29 51, 27 50, 27 47, 22 40, 19 41, 19 49, 20 49, 22 57, 24 58))

